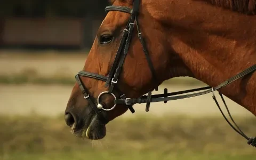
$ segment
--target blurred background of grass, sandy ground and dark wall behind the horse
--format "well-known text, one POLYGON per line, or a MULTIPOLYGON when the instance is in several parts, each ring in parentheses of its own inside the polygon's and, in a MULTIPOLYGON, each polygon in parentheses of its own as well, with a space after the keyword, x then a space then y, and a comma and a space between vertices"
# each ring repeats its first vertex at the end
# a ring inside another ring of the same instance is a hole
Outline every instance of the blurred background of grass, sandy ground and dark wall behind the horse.
MULTIPOLYGON (((106 5, 1 1, 0 159, 255 159, 255 148, 229 127, 211 94, 152 103, 149 113, 135 105, 135 114, 110 122, 100 141, 70 133, 63 113, 106 5)), ((174 78, 154 93, 201 86, 192 78, 174 78)), ((242 130, 255 135, 255 117, 226 101, 242 130)))

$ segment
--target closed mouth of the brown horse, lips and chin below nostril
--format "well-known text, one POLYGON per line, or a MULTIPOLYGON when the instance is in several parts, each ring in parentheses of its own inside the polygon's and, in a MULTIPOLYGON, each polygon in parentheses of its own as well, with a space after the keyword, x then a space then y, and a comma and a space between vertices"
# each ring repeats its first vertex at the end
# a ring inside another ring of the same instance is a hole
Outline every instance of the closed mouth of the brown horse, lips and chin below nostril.
POLYGON ((106 125, 99 120, 97 115, 94 115, 81 129, 72 126, 71 133, 79 138, 100 140, 106 136, 106 125))

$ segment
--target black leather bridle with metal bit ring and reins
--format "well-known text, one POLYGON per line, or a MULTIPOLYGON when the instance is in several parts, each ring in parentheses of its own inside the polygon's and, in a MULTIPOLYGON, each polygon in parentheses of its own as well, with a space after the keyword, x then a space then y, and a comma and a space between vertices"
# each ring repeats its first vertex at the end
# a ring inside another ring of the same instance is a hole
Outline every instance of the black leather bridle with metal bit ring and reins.
MULTIPOLYGON (((139 28, 139 23, 138 23, 138 13, 139 13, 139 6, 140 6, 140 0, 134 0, 133 1, 133 8, 130 9, 129 7, 126 6, 107 6, 105 11, 119 11, 119 12, 125 12, 125 13, 130 13, 131 17, 129 19, 129 22, 126 25, 126 28, 123 30, 123 35, 122 35, 122 39, 121 42, 119 44, 117 53, 116 53, 116 57, 115 60, 113 62, 113 66, 110 69, 109 75, 103 76, 103 75, 99 75, 99 74, 95 74, 95 73, 89 73, 87 71, 79 71, 79 73, 75 76, 76 81, 79 85, 79 88, 81 89, 83 95, 84 95, 84 99, 87 99, 87 101, 89 102, 89 105, 92 107, 92 109, 95 111, 95 113, 97 114, 97 116, 99 117, 99 119, 102 121, 102 123, 107 124, 108 123, 108 119, 105 118, 105 116, 103 116, 102 114, 102 110, 105 111, 109 111, 109 110, 113 110, 117 104, 119 105, 125 105, 127 106, 128 109, 130 109, 130 111, 132 113, 135 112, 135 110, 133 109, 133 105, 136 103, 146 103, 146 111, 149 111, 149 107, 150 107, 150 102, 164 102, 166 103, 167 101, 171 101, 171 100, 178 100, 178 99, 185 99, 185 98, 190 98, 190 97, 196 97, 198 95, 203 95, 206 93, 211 93, 212 92, 212 98, 215 101, 216 105, 218 106, 218 108, 220 109, 220 112, 222 114, 222 116, 226 119, 227 123, 240 135, 242 135, 245 139, 247 139, 247 143, 249 145, 252 145, 254 147, 256 147, 256 137, 247 137, 241 129, 239 129, 239 127, 237 126, 237 124, 235 123, 233 117, 231 116, 229 109, 226 105, 226 102, 222 96, 222 94, 219 92, 220 97, 228 111, 228 115, 231 119, 231 121, 235 124, 235 126, 237 127, 237 129, 228 121, 227 117, 223 114, 223 111, 221 110, 219 103, 217 101, 217 99, 215 98, 214 95, 214 91, 217 91, 219 89, 221 89, 222 87, 225 87, 226 85, 236 81, 239 78, 244 77, 245 75, 251 74, 256 70, 256 65, 253 65, 250 68, 247 68, 246 70, 242 71, 241 73, 237 74, 234 77, 231 77, 230 79, 228 79, 227 81, 221 83, 220 85, 216 86, 216 87, 211 87, 211 86, 206 86, 206 87, 201 87, 198 89, 192 89, 192 90, 185 90, 185 91, 179 91, 179 92, 171 92, 168 93, 167 89, 164 89, 164 93, 163 94, 155 94, 152 95, 151 91, 148 92, 148 95, 143 95, 140 98, 126 98, 125 94, 122 94, 120 97, 116 97, 116 95, 113 93, 114 88, 116 90, 118 90, 117 87, 115 87, 115 85, 118 82, 118 78, 119 78, 119 74, 122 71, 122 67, 123 67, 123 63, 125 60, 125 57, 127 55, 127 52, 129 50, 129 46, 131 43, 131 39, 132 39, 132 33, 133 33, 133 29, 134 26, 136 25, 137 30, 138 30, 138 37, 140 39, 142 48, 143 48, 143 52, 145 53, 146 59, 148 61, 148 66, 151 70, 151 74, 153 76, 153 81, 155 82, 154 84, 156 84, 157 82, 157 77, 156 77, 156 73, 153 67, 153 63, 149 57, 149 53, 146 47, 146 43, 144 38, 142 37, 142 33, 140 31, 139 28), (86 87, 84 86, 84 84, 81 81, 82 77, 90 77, 90 78, 95 78, 101 81, 106 82, 105 87, 109 86, 109 91, 104 91, 101 92, 98 95, 97 98, 97 103, 94 102, 94 98, 91 97, 86 89, 86 87), (205 90, 205 91, 203 91, 205 90), (197 93, 190 93, 190 92, 196 92, 196 91, 201 91, 201 92, 197 92, 197 93), (185 94, 185 93, 190 93, 190 94, 185 94), (111 94, 114 98, 114 106, 110 109, 105 109, 103 108, 103 105, 100 103, 100 97, 103 94, 111 94), (179 95, 179 94, 185 94, 185 95, 179 95), (176 95, 176 96, 173 96, 176 95), (96 105, 97 104, 97 105, 96 105)), ((155 86, 155 90, 157 91, 158 88, 157 86, 155 86)))

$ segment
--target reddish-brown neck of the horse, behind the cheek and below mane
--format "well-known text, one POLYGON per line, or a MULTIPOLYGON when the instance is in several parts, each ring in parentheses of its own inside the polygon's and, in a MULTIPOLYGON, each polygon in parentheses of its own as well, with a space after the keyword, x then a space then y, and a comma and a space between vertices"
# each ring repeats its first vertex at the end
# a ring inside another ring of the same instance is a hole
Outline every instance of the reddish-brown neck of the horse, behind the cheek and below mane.
MULTIPOLYGON (((167 26, 171 50, 190 73, 183 76, 195 77, 214 87, 256 63, 255 17, 201 1, 164 2, 169 4, 154 5, 161 13, 151 15, 167 26)), ((256 73, 238 79, 220 92, 256 116, 256 73)))

